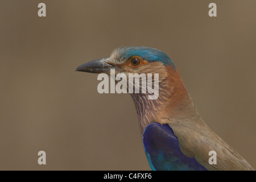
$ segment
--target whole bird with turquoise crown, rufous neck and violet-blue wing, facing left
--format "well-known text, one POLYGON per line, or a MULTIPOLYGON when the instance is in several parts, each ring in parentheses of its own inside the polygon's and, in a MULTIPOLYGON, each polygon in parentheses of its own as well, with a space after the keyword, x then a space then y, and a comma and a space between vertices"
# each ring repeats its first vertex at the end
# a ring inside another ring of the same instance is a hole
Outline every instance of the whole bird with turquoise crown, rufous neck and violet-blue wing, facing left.
MULTIPOLYGON (((79 72, 158 74, 158 98, 129 93, 138 115, 144 151, 154 171, 254 171, 238 152, 203 121, 170 57, 156 48, 120 47, 89 61, 79 72), (214 153, 210 154, 210 151, 214 153), (215 154, 215 156, 214 156, 215 154), (210 159, 212 156, 215 157, 210 159)), ((141 87, 140 87, 141 88, 141 87)))

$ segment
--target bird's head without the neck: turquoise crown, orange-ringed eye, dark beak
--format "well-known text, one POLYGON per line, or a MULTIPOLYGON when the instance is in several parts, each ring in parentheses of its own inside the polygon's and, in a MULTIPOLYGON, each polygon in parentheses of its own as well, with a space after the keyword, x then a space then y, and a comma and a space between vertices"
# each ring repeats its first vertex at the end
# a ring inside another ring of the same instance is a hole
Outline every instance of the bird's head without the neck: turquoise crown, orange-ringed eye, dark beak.
POLYGON ((121 47, 115 49, 110 57, 82 64, 76 71, 110 74, 110 69, 115 69, 116 75, 125 73, 128 76, 129 73, 163 73, 167 66, 175 68, 170 57, 158 49, 121 47))

